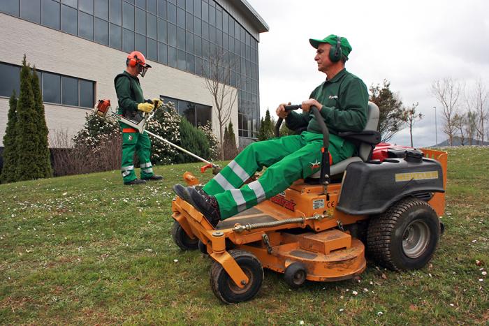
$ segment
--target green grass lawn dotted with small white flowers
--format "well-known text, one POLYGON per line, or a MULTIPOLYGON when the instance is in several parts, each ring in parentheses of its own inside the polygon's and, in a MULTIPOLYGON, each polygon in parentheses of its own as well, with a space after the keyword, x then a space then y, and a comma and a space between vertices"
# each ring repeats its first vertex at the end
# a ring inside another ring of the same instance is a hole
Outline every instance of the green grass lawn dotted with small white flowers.
POLYGON ((1 184, 0 324, 487 325, 489 148, 448 153, 446 230, 427 267, 369 262, 360 280, 299 290, 265 271, 236 305, 212 294, 210 258, 170 236, 171 186, 200 164, 156 167, 165 181, 144 186, 119 171, 1 184))

